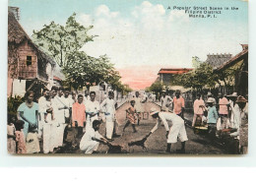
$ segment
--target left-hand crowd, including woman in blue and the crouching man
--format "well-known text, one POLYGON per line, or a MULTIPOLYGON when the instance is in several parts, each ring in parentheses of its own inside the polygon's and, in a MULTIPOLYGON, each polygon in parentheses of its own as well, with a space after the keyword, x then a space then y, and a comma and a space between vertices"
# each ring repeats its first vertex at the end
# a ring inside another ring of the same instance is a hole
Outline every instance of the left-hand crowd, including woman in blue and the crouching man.
POLYGON ((113 91, 100 104, 95 91, 85 96, 57 87, 44 89, 37 102, 33 101, 33 91, 27 91, 24 98, 17 117, 8 117, 10 153, 52 153, 63 147, 68 130, 73 130, 72 142, 79 141, 76 145, 85 153, 95 152, 98 142, 110 145, 113 137, 119 137, 115 132, 117 103, 113 91), (105 116, 105 138, 97 132, 101 123, 99 112, 105 116))

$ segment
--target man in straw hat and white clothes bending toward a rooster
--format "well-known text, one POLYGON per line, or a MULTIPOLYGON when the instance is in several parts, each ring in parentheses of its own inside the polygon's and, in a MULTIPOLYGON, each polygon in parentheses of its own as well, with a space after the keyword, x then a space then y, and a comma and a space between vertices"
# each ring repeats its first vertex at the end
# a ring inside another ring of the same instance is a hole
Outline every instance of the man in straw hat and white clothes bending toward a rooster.
POLYGON ((164 128, 166 130, 166 138, 167 138, 167 149, 166 152, 171 152, 171 144, 177 142, 177 138, 179 138, 181 142, 181 153, 185 153, 185 142, 187 139, 187 133, 185 130, 184 120, 178 115, 170 112, 160 112, 156 108, 152 108, 150 111, 150 115, 153 118, 158 118, 157 124, 151 130, 149 137, 152 133, 154 133, 160 126, 160 121, 162 121, 164 128), (168 123, 171 123, 171 127, 169 128, 168 123))

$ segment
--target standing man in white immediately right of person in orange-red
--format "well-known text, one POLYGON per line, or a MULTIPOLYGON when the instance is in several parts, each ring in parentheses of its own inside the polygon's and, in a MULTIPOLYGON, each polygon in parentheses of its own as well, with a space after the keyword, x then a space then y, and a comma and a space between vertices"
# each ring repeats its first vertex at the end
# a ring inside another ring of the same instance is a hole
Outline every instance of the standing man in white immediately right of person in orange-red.
POLYGON ((86 102, 87 125, 86 131, 89 127, 93 127, 92 123, 98 119, 99 102, 96 101, 96 91, 90 92, 90 99, 86 102))

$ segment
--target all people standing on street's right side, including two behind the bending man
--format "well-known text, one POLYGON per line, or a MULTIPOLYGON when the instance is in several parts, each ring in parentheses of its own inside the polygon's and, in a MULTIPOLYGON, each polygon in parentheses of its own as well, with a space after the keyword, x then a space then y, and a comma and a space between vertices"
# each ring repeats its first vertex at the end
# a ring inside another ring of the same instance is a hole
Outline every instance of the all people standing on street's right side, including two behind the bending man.
MULTIPOLYGON (((164 112, 173 112, 184 118, 185 100, 180 91, 175 91, 173 98, 161 92, 160 109, 164 112)), ((220 138, 223 134, 239 141, 239 152, 246 153, 248 146, 248 100, 237 95, 237 92, 224 95, 219 93, 214 97, 211 91, 205 100, 201 93, 193 103, 192 128, 207 129, 213 138, 220 138), (206 127, 201 127, 206 126, 206 127)))

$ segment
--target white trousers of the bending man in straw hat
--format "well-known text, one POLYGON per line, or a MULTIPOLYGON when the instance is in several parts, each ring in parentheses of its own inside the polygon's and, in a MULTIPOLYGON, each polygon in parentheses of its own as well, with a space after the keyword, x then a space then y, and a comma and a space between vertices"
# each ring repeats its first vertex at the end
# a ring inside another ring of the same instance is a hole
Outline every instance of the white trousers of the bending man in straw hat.
POLYGON ((180 142, 185 142, 185 141, 188 140, 187 139, 187 133, 186 133, 186 130, 185 130, 184 121, 174 123, 169 128, 167 143, 176 143, 177 138, 179 138, 180 142))

